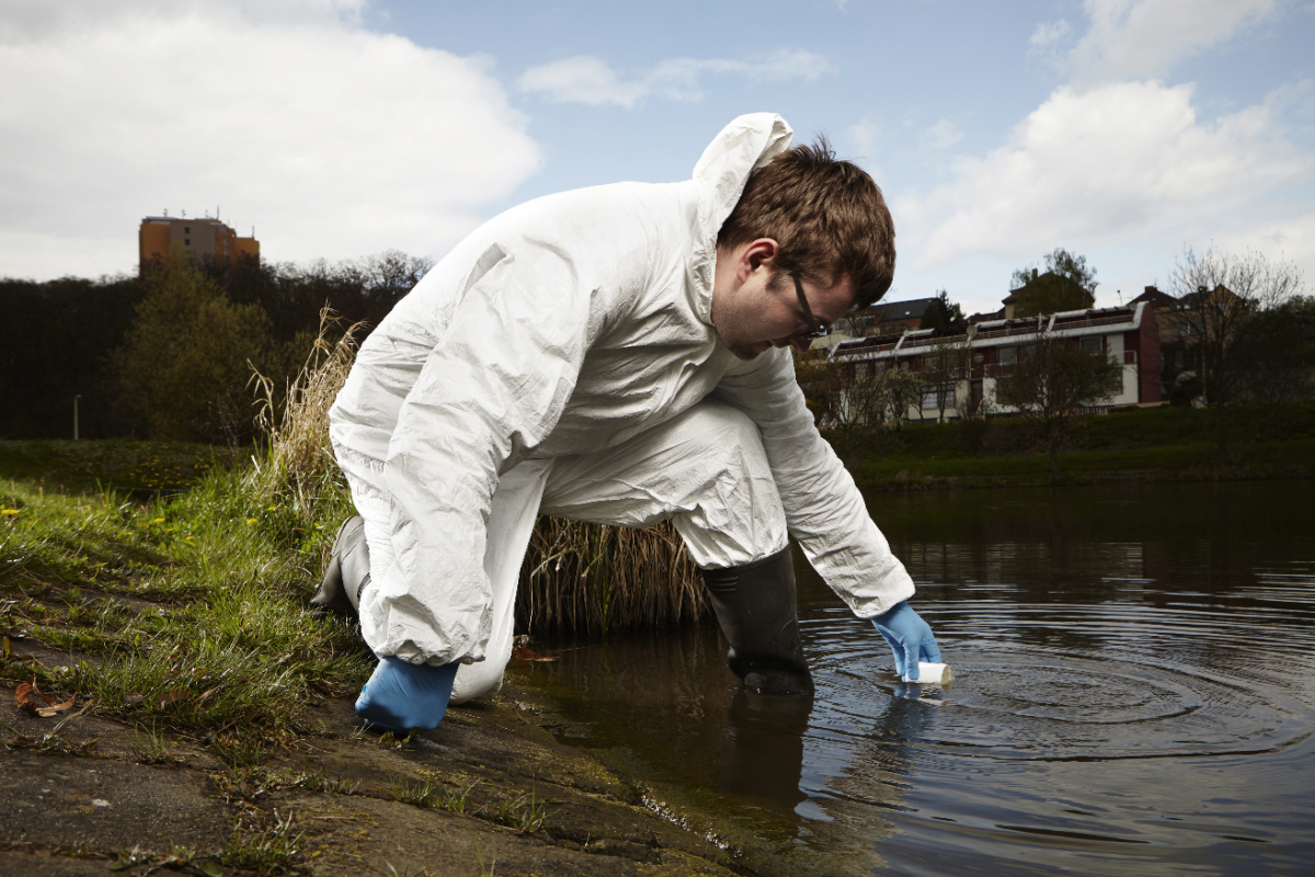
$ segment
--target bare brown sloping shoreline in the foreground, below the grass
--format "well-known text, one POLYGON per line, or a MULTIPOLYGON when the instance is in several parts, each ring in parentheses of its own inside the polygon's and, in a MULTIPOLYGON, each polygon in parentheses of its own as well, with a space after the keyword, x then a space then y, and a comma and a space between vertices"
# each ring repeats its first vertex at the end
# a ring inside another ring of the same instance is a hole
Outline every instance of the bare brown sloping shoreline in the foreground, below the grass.
MULTIPOLYGON (((14 640, 7 664, 24 660, 78 656, 14 640)), ((30 715, 4 688, 0 877, 764 873, 768 851, 734 827, 559 743, 558 706, 514 667, 497 698, 406 742, 326 697, 287 747, 249 751, 93 702, 30 715)))

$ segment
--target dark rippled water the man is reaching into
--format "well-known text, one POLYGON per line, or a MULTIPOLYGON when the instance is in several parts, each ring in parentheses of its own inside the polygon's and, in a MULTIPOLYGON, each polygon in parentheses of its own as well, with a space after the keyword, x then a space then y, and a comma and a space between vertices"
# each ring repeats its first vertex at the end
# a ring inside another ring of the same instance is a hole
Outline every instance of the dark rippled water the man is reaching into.
POLYGON ((740 690, 714 628, 527 672, 560 739, 761 873, 1310 874, 1312 486, 874 494, 945 688, 802 560, 811 701, 740 690))

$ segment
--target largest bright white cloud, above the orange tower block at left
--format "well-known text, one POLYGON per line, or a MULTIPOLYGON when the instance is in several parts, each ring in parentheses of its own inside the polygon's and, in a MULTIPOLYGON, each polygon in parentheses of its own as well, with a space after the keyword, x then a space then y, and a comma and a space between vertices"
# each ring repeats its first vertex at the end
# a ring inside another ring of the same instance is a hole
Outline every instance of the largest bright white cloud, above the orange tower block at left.
POLYGON ((488 62, 360 30, 366 1, 7 8, 0 276, 132 270, 166 208, 276 262, 455 242, 538 147, 488 62))

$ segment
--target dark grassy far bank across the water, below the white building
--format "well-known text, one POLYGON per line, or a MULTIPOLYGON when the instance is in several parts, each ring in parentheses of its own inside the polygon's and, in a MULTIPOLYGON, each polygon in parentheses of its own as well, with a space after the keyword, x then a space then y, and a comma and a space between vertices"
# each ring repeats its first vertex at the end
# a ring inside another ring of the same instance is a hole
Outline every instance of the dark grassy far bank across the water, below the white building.
MULTIPOLYGON (((1227 414, 1230 454, 1218 460, 1215 413, 1124 409, 1072 425, 1060 454, 1065 484, 1315 477, 1315 404, 1239 406, 1227 414)), ((843 439, 828 437, 843 448, 843 439)), ((1049 462, 1028 426, 1013 418, 909 423, 860 447, 852 462, 864 489, 1032 486, 1051 483, 1049 462)))

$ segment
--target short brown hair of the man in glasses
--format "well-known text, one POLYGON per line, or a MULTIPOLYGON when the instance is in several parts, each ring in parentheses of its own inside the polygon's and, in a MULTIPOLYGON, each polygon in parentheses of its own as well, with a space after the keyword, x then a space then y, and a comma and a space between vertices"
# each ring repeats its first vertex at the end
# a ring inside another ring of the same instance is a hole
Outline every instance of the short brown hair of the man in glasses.
POLYGON ((848 275, 857 308, 877 301, 894 279, 896 226, 881 189, 863 168, 838 160, 825 137, 750 178, 717 246, 732 250, 759 238, 780 245, 778 276, 830 287, 848 275))

